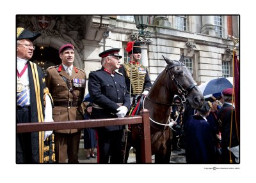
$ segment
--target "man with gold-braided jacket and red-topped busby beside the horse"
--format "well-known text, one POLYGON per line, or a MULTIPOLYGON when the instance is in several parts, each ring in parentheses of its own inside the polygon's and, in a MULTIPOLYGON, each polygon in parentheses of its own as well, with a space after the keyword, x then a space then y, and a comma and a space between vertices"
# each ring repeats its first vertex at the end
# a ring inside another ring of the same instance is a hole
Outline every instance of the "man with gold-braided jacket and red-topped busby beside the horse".
MULTIPOLYGON (((131 59, 128 63, 124 63, 120 66, 119 72, 125 77, 126 87, 131 92, 131 105, 134 104, 134 98, 139 94, 147 95, 148 91, 152 87, 148 70, 145 66, 140 64, 141 59, 141 46, 139 41, 131 41, 127 43, 126 51, 131 59)), ((131 112, 130 112, 131 113, 131 112)), ((134 127, 138 125, 133 125, 134 127)), ((130 131, 132 128, 130 126, 130 131)), ((127 163, 129 157, 129 150, 133 146, 136 149, 136 163, 141 163, 141 149, 140 141, 136 140, 132 142, 131 132, 127 133, 127 144, 125 149, 125 163, 127 163), (133 144, 131 144, 131 142, 133 144)))

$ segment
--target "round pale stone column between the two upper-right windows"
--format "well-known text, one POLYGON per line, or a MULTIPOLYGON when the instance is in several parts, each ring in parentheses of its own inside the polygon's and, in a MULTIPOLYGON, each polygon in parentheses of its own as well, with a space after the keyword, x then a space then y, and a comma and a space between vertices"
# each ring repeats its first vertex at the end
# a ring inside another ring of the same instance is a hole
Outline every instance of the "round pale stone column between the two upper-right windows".
POLYGON ((209 36, 216 36, 216 31, 214 30, 214 16, 204 15, 202 16, 202 34, 207 34, 209 36))

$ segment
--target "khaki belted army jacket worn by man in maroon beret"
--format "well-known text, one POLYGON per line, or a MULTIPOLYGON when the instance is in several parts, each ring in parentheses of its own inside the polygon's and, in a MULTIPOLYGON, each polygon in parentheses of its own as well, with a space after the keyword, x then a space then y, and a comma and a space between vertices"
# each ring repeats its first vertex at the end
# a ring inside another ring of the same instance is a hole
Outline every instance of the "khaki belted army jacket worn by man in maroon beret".
MULTIPOLYGON (((46 70, 45 83, 49 89, 49 92, 52 95, 53 102, 56 103, 58 101, 73 101, 73 95, 68 90, 68 86, 66 82, 63 80, 63 77, 67 78, 70 86, 74 89, 74 93, 77 96, 77 101, 79 105, 83 102, 84 92, 85 92, 85 80, 86 74, 84 71, 73 67, 72 75, 69 77, 63 68, 62 64, 60 66, 53 66, 47 68, 46 70), (84 86, 83 87, 74 87, 72 80, 74 78, 83 79, 84 86)), ((54 104, 54 108, 52 108, 52 118, 54 121, 76 121, 83 119, 83 114, 79 111, 77 106, 57 106, 54 104)), ((57 133, 76 133, 81 129, 63 129, 56 130, 57 133)))

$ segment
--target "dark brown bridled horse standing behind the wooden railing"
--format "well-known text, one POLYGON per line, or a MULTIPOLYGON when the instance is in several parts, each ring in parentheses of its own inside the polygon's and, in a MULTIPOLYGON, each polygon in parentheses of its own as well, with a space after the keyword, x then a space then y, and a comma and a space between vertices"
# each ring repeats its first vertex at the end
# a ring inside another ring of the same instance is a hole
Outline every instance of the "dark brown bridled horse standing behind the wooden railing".
MULTIPOLYGON (((200 109, 204 103, 202 92, 183 63, 184 56, 182 55, 179 61, 164 57, 164 61, 167 63, 166 68, 157 77, 143 101, 143 108, 148 110, 150 117, 151 150, 152 155, 155 155, 155 163, 170 163, 172 152, 170 113, 173 97, 180 96, 182 103, 187 102, 195 109, 200 109)), ((132 142, 137 143, 134 146, 136 163, 141 163, 139 136, 140 128, 133 126, 132 142)))

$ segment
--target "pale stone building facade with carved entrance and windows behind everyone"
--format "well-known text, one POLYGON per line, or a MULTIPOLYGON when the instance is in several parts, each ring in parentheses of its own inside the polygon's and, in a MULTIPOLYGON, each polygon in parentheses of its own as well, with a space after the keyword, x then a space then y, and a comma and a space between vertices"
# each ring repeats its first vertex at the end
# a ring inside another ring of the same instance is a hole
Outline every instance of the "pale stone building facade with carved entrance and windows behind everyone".
MULTIPOLYGON (((186 66, 198 82, 232 77, 234 38, 239 38, 239 15, 150 15, 147 31, 152 43, 142 48, 143 64, 152 82, 164 70, 164 57, 186 58, 186 66)), ((42 33, 34 45, 32 61, 42 66, 60 64, 58 49, 65 43, 76 47, 74 65, 85 70, 100 67, 99 53, 125 47, 138 29, 131 15, 17 15, 17 26, 42 33)), ((239 56, 239 44, 236 45, 239 56)))

